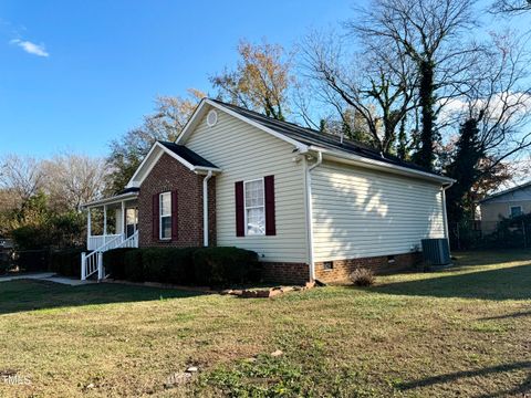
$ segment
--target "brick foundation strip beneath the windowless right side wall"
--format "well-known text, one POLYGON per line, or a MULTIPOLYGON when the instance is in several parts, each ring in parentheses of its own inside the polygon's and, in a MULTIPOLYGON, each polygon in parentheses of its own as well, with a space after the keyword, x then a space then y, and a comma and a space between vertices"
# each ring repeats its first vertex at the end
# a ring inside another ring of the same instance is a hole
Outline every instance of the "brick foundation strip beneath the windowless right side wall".
POLYGON ((323 262, 315 263, 315 279, 321 282, 344 282, 356 268, 368 268, 375 274, 389 274, 410 270, 421 262, 421 253, 382 255, 364 259, 332 261, 332 270, 325 270, 323 262), (389 261, 389 260, 394 261, 389 261))

